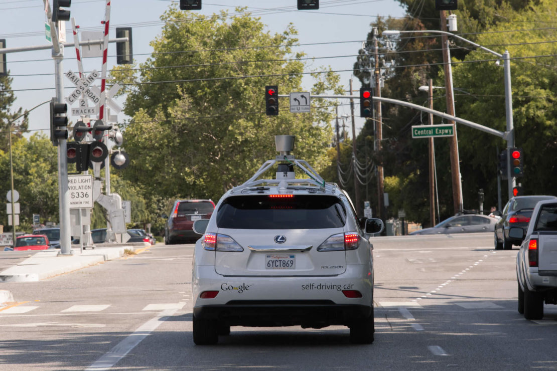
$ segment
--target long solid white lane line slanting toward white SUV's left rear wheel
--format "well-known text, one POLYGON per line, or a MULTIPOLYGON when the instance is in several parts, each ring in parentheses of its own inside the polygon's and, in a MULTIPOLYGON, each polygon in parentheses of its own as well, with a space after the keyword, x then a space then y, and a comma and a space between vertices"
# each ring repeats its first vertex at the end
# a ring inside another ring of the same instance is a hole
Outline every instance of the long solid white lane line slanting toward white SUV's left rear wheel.
POLYGON ((160 324, 164 322, 165 317, 172 316, 178 309, 167 309, 160 312, 154 318, 146 321, 141 325, 133 334, 128 335, 120 343, 116 344, 114 348, 110 349, 107 353, 102 355, 93 364, 86 369, 89 370, 108 370, 113 367, 120 359, 124 358, 126 354, 134 349, 141 340, 145 339, 151 332, 157 329, 160 324))

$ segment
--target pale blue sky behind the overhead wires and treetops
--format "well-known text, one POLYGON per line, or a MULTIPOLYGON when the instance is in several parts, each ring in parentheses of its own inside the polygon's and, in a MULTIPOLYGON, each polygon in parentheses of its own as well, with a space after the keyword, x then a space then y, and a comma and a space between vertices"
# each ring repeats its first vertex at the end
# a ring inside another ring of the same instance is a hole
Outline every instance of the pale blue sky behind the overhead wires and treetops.
MULTIPOLYGON (((111 0, 109 37, 116 37, 116 27, 132 27, 134 60, 144 62, 153 51, 150 41, 162 29, 160 16, 171 3, 170 0, 111 0)), ((404 15, 404 9, 394 0, 321 0, 320 8, 313 11, 297 10, 296 0, 202 0, 201 11, 190 12, 209 15, 227 9, 229 13, 234 13, 234 9, 239 6, 247 7, 253 16, 260 17, 271 33, 282 33, 290 22, 293 23, 299 32, 299 43, 302 44, 293 51, 304 51, 307 57, 315 57, 316 60, 309 63, 310 68, 330 66, 334 71, 348 70, 339 72, 341 83, 347 91, 350 78, 353 79, 353 91, 359 91, 360 82, 350 71, 355 62, 354 55, 358 53, 361 42, 370 31, 370 23, 377 16, 404 15)), ((71 17, 75 18, 79 32, 103 31, 101 21, 104 21, 105 10, 106 0, 73 0, 70 7, 71 17)), ((0 0, 0 14, 0 39, 6 39, 7 48, 47 46, 50 43, 45 37, 46 14, 41 0, 0 0)), ((67 42, 74 41, 71 22, 66 22, 66 39, 67 42)), ((86 73, 92 70, 101 72, 101 57, 82 60, 86 73)), ((108 70, 116 65, 115 43, 108 46, 107 65, 108 70)), ((13 78, 12 90, 17 97, 12 110, 19 107, 30 110, 55 96, 55 64, 51 49, 8 53, 7 68, 13 78)), ((79 72, 73 46, 65 48, 62 65, 64 73, 70 70, 79 72)), ((309 91, 311 84, 311 78, 306 78, 303 82, 304 90, 309 91)), ((94 85, 100 87, 100 80, 96 80, 94 85)), ((63 77, 63 86, 65 96, 69 96, 75 89, 66 77, 63 77)), ((280 91, 280 87, 279 92, 288 93, 280 91)), ((117 98, 115 101, 121 107, 124 105, 124 98, 117 98)), ((281 110, 287 109, 282 102, 286 103, 287 100, 281 100, 281 110)), ((72 107, 77 108, 77 103, 72 107)), ((68 111, 70 116, 70 107, 68 111)), ((349 114, 348 105, 339 107, 339 116, 349 114)), ((111 112, 111 115, 115 115, 115 112, 111 112)), ((48 104, 33 110, 29 115, 30 133, 42 130, 50 135, 49 116, 48 104)), ((358 113, 356 117, 356 131, 359 131, 364 120, 358 117, 358 113)), ((69 120, 75 122, 78 118, 79 116, 71 116, 69 120)), ((124 113, 118 114, 118 122, 123 123, 128 119, 124 113)), ((350 120, 346 120, 346 125, 350 125, 350 120)))

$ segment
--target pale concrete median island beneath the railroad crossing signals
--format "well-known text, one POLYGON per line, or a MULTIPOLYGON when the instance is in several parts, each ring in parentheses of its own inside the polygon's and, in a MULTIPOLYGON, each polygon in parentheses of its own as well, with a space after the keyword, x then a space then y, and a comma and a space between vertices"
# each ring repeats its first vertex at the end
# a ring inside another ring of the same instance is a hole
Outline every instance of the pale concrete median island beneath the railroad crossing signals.
POLYGON ((58 249, 37 251, 30 258, 0 272, 0 308, 3 303, 13 301, 12 293, 2 290, 2 282, 40 281, 102 261, 118 259, 126 249, 140 253, 150 247, 142 244, 111 245, 83 251, 72 249, 72 254, 68 255, 59 255, 58 249))

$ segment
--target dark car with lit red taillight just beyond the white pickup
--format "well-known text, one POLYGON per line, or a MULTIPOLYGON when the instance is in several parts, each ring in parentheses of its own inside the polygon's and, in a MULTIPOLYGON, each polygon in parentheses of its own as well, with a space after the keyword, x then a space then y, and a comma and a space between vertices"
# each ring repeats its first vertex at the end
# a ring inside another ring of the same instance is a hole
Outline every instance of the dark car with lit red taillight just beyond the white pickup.
POLYGON ((495 250, 511 250, 512 245, 520 245, 522 239, 509 236, 512 227, 526 228, 532 210, 539 201, 557 199, 555 196, 516 196, 505 205, 501 219, 495 224, 495 250))

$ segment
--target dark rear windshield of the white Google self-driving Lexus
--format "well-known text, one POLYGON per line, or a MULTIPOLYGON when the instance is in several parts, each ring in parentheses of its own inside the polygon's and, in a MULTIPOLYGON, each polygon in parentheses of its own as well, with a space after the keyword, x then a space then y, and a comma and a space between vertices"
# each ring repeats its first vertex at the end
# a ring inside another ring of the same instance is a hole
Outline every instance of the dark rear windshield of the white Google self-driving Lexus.
POLYGON ((217 212, 219 228, 318 229, 342 227, 345 221, 346 210, 338 197, 324 195, 233 196, 217 212))

